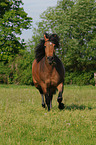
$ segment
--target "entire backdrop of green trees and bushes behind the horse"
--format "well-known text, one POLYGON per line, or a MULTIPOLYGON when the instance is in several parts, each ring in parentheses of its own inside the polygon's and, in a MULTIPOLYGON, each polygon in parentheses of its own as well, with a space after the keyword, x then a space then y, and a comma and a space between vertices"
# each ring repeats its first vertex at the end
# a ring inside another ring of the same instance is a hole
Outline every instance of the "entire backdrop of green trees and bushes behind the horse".
POLYGON ((95 0, 59 0, 56 7, 50 7, 41 14, 41 21, 37 23, 37 28, 32 30, 32 39, 27 44, 24 41, 20 43, 14 35, 21 34, 22 29, 30 28, 32 22, 32 19, 27 17, 23 8, 20 7, 22 1, 13 0, 10 4, 9 1, 3 0, 0 3, 0 10, 5 7, 4 3, 8 3, 4 12, 0 11, 1 83, 32 84, 34 48, 43 38, 43 33, 48 32, 57 33, 60 37, 60 48, 56 50, 56 53, 65 66, 65 84, 94 85, 94 72, 96 72, 95 0), (13 12, 14 15, 12 15, 13 12), (22 15, 21 12, 23 12, 22 15), (11 14, 6 22, 8 13, 11 14), (22 19, 19 19, 18 15, 22 19), (7 29, 5 29, 6 32, 3 31, 4 28, 7 29))

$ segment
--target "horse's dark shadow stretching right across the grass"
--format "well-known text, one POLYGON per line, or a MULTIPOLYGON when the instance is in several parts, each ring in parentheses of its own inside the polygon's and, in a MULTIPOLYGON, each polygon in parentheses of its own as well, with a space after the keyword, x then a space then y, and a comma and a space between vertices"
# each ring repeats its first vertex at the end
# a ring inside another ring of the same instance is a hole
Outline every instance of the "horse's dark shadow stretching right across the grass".
POLYGON ((92 110, 92 107, 88 107, 88 106, 84 106, 84 105, 76 105, 76 104, 71 104, 71 105, 64 105, 63 103, 61 103, 58 108, 60 110, 85 110, 86 108, 88 108, 89 110, 92 110))

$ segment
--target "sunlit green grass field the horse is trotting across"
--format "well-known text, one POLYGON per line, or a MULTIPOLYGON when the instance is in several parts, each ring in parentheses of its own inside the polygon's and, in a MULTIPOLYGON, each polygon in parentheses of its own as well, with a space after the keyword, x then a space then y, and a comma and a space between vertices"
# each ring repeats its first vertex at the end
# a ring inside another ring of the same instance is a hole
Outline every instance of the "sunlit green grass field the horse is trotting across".
POLYGON ((96 145, 96 87, 65 86, 50 112, 35 87, 0 85, 0 145, 96 145))

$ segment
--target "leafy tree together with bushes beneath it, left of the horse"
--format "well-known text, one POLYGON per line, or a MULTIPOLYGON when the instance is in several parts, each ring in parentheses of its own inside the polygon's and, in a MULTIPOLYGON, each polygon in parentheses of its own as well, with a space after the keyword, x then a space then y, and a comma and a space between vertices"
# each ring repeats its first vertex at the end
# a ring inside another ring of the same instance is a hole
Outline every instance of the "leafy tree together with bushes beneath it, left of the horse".
POLYGON ((31 54, 17 35, 31 28, 22 0, 0 1, 0 83, 31 84, 31 54))

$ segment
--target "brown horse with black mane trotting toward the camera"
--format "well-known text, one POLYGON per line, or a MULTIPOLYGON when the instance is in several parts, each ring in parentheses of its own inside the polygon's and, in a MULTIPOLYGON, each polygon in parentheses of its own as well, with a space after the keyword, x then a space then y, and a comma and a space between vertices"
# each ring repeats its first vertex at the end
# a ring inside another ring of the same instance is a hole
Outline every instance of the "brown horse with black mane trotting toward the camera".
POLYGON ((65 69, 61 60, 55 55, 59 47, 57 34, 44 34, 44 39, 35 48, 35 60, 32 64, 32 77, 35 87, 42 97, 42 107, 52 108, 52 98, 59 91, 57 101, 62 108, 62 93, 64 88, 65 69), (45 97, 44 97, 45 96, 45 97))

